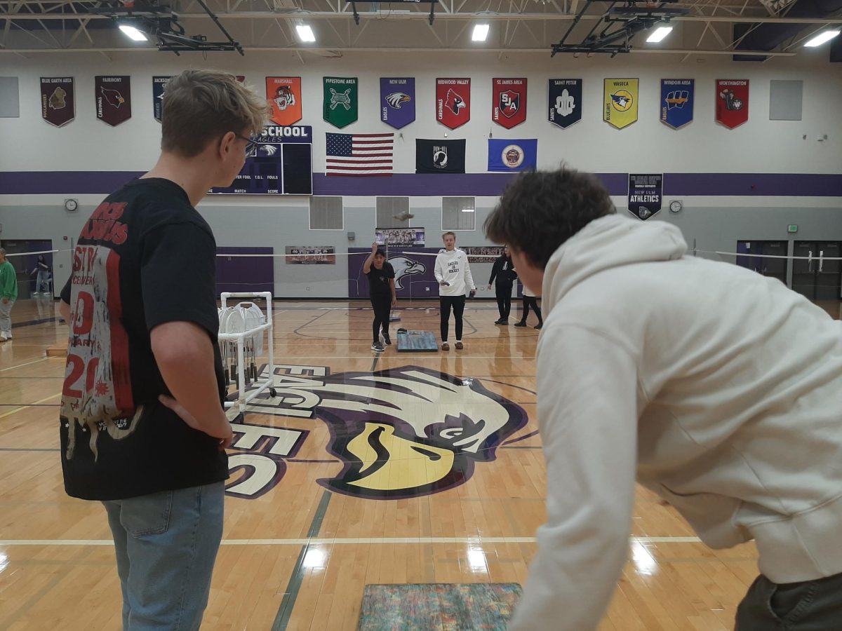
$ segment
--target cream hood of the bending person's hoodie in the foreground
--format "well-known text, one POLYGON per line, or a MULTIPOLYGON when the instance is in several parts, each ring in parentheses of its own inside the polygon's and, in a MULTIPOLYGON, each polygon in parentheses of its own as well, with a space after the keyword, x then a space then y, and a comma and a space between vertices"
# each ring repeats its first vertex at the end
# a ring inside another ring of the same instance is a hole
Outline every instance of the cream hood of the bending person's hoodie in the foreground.
POLYGON ((544 269, 547 313, 573 287, 606 269, 639 262, 672 261, 687 252, 681 231, 665 221, 608 215, 591 221, 553 253, 544 269))

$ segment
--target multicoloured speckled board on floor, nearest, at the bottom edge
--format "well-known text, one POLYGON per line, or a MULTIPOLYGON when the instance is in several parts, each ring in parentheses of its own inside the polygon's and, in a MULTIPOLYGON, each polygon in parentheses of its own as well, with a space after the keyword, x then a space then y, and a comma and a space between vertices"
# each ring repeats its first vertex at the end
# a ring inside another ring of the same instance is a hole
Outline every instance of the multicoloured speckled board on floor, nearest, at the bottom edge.
POLYGON ((505 631, 518 583, 366 585, 359 631, 505 631))

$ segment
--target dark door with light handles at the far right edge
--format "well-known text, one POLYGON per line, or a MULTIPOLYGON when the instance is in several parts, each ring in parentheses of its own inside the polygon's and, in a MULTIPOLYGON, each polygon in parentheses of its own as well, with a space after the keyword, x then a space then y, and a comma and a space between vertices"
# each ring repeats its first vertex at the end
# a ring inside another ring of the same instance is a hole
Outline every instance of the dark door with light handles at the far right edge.
POLYGON ((842 285, 840 246, 839 241, 796 241, 792 289, 810 300, 839 300, 842 285))

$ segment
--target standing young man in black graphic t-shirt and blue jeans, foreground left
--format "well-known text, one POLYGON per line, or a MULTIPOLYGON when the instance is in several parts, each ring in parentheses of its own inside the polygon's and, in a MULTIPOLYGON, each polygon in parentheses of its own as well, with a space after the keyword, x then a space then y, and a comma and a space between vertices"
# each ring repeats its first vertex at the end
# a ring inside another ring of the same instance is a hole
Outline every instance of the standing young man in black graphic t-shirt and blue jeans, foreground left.
POLYGON ((61 291, 64 484, 105 506, 129 631, 198 629, 210 593, 233 434, 195 205, 232 184, 266 114, 233 75, 173 77, 157 164, 93 211, 61 291))

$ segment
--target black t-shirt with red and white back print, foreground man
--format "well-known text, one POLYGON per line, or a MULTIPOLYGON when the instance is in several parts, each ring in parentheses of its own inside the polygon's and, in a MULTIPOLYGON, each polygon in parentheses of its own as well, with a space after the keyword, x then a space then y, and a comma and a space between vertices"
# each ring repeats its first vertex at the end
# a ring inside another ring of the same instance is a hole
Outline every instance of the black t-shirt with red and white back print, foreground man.
POLYGON ((150 331, 173 321, 208 332, 220 405, 225 395, 216 241, 184 189, 138 179, 99 204, 79 236, 61 300, 72 314, 61 396, 67 494, 117 500, 225 480, 218 440, 157 400, 170 393, 150 331))

